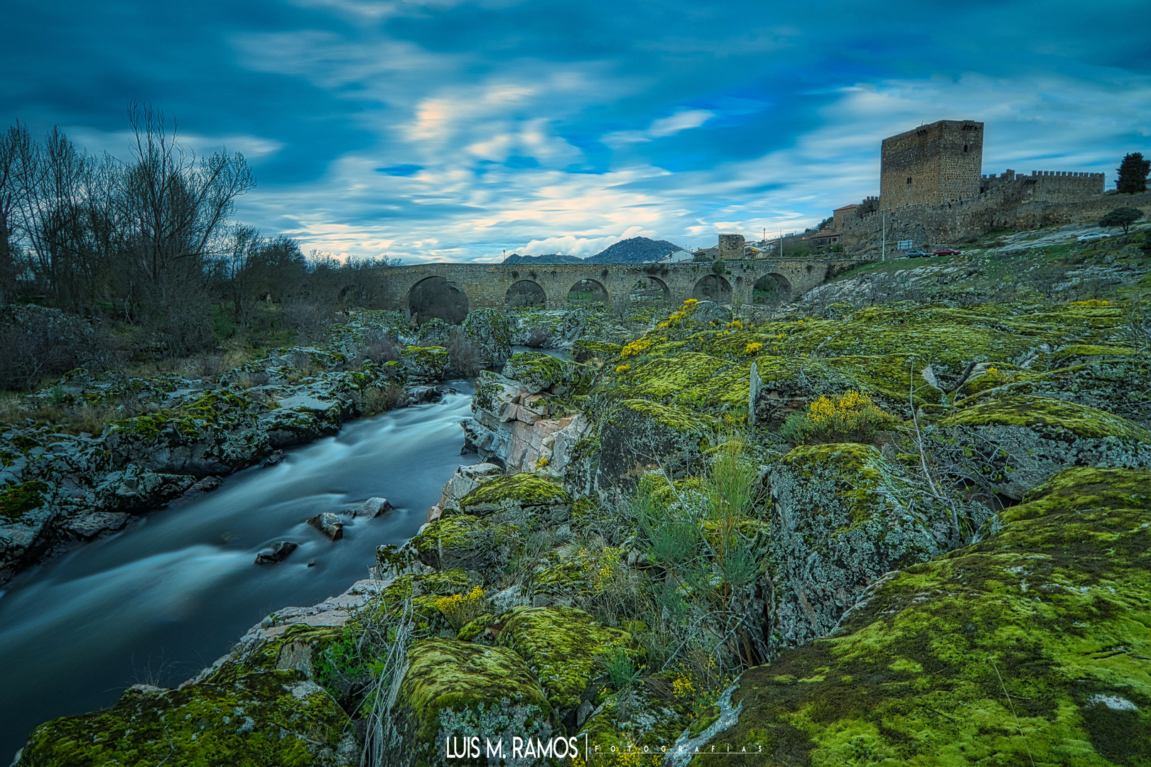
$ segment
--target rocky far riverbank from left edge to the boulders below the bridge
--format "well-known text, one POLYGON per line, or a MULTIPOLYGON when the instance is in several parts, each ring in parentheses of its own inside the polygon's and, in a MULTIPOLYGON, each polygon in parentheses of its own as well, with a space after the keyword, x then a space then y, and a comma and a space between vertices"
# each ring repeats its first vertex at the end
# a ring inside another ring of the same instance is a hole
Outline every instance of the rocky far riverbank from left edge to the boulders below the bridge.
MULTIPOLYGON (((595 312, 479 310, 462 328, 463 351, 470 366, 502 365, 513 344, 563 347, 589 328, 612 325, 595 312)), ((351 419, 437 397, 434 384, 463 375, 445 347, 450 329, 359 313, 328 343, 280 348, 214 378, 64 375, 25 398, 28 409, 110 409, 112 417, 100 434, 33 419, 0 428, 0 583, 351 419), (372 333, 395 339, 398 359, 365 358, 372 333)))

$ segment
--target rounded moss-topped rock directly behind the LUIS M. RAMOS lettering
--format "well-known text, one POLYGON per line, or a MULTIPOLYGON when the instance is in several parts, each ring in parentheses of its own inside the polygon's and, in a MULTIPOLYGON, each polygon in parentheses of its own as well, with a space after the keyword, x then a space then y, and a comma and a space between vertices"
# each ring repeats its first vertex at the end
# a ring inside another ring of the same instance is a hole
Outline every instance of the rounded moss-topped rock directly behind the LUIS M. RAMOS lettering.
POLYGON ((449 738, 547 741, 554 730, 548 699, 524 660, 511 650, 455 639, 426 639, 409 652, 399 688, 401 730, 412 736, 414 762, 450 765, 449 738))

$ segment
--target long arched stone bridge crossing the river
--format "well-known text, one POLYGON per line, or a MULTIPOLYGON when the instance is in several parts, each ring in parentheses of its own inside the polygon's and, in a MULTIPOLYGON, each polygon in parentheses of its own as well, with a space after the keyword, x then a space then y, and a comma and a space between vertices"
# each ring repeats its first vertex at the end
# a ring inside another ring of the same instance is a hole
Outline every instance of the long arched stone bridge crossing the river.
POLYGON ((386 308, 422 321, 462 320, 474 308, 563 308, 574 300, 615 304, 655 298, 677 305, 689 298, 721 304, 779 305, 863 263, 841 259, 748 259, 683 263, 420 263, 388 269, 386 308))

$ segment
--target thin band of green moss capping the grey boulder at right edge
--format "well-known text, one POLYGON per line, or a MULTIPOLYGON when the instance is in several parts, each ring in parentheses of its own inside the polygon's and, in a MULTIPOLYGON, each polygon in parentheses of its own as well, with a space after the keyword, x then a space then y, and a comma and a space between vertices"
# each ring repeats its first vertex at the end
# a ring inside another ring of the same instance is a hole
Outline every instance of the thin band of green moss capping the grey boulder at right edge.
POLYGON ((1047 397, 1006 397, 963 408, 944 427, 1020 425, 1066 429, 1080 437, 1122 437, 1151 443, 1151 431, 1106 411, 1047 397))

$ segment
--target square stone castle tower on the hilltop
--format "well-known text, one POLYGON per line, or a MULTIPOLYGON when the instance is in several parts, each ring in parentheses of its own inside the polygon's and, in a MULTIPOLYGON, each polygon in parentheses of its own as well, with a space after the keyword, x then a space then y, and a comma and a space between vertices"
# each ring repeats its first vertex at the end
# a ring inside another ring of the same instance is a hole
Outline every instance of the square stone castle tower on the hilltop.
POLYGON ((879 207, 943 205, 980 193, 983 123, 940 120, 883 139, 879 207))

